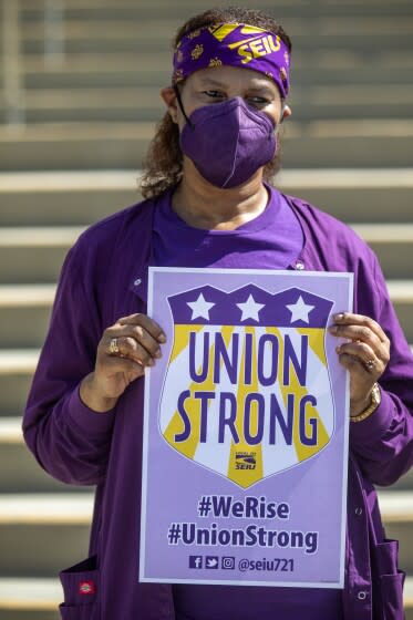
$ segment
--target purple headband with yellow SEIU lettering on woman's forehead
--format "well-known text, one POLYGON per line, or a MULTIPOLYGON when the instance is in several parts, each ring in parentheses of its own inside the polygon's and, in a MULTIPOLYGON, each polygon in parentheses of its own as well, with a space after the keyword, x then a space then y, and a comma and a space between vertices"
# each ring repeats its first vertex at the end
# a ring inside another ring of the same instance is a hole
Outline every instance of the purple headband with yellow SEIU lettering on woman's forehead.
POLYGON ((288 95, 290 52, 286 43, 277 34, 245 23, 217 23, 183 37, 174 54, 172 83, 223 64, 259 71, 276 82, 282 99, 288 95))

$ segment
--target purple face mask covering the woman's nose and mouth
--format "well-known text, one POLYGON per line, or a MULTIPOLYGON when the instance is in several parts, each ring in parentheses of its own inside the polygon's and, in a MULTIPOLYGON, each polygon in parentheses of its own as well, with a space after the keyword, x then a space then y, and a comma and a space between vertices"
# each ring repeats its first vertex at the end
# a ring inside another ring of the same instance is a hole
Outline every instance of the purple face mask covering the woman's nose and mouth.
POLYGON ((237 187, 275 156, 275 124, 234 97, 195 110, 180 133, 180 148, 211 185, 237 187))

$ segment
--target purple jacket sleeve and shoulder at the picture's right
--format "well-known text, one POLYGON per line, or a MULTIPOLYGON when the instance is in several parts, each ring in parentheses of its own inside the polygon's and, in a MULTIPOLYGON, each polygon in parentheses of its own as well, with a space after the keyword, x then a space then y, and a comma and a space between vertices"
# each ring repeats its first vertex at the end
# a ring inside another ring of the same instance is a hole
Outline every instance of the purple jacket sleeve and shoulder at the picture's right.
POLYGON ((306 268, 354 273, 354 312, 374 319, 391 342, 380 379, 382 403, 366 420, 350 425, 350 448, 364 477, 390 485, 413 465, 413 355, 390 300, 374 252, 348 226, 308 203, 291 198, 301 217, 306 268))

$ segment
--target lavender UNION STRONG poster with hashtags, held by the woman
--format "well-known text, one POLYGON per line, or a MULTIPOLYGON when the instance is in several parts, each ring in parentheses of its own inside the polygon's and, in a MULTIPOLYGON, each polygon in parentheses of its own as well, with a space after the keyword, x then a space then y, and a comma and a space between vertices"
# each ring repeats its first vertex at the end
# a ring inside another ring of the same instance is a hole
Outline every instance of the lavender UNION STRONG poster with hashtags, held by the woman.
POLYGON ((343 588, 350 273, 149 269, 140 580, 343 588))

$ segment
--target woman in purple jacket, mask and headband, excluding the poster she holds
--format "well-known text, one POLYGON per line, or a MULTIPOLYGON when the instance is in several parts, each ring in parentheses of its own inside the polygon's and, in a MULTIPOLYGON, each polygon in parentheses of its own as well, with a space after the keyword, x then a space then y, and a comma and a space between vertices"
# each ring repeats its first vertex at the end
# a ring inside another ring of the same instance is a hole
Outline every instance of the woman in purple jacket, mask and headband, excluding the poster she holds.
POLYGON ((372 251, 268 184, 291 114, 290 52, 282 28, 259 11, 213 10, 184 24, 146 200, 91 227, 65 260, 23 423, 50 474, 97 485, 90 558, 61 575, 63 618, 403 616, 403 575, 373 484, 392 484, 413 463, 413 360, 372 251), (351 394, 343 591, 137 582, 143 375, 165 342, 145 313, 149 264, 354 273, 354 313, 331 328, 347 342, 338 355, 351 394))

